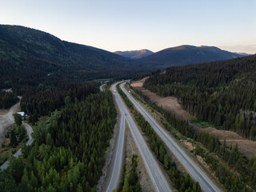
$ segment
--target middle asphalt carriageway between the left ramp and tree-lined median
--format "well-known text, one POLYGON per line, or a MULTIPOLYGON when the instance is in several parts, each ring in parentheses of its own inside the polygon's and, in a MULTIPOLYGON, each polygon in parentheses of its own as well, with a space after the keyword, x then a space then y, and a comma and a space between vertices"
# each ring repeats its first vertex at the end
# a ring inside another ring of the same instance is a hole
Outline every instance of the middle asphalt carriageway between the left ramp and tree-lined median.
POLYGON ((116 85, 117 83, 112 86, 112 90, 114 91, 114 96, 116 98, 118 108, 122 114, 125 114, 126 122, 128 123, 128 126, 130 128, 130 132, 134 138, 134 142, 138 147, 138 151, 142 156, 142 160, 146 166, 146 171, 150 176, 155 191, 172 191, 168 182, 166 181, 165 176, 162 174, 162 170, 158 166, 158 162, 156 162, 149 147, 146 145, 144 138, 142 138, 142 134, 139 132, 138 127, 134 122, 134 119, 130 116, 130 113, 127 110, 124 102, 122 102, 121 96, 115 89, 116 85))

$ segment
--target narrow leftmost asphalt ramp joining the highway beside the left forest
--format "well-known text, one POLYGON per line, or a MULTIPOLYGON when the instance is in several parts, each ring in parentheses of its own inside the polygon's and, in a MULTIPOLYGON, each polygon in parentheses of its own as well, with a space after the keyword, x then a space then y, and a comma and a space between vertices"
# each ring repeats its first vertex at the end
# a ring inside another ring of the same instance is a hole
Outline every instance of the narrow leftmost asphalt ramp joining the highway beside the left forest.
MULTIPOLYGON (((115 89, 117 83, 112 85, 112 89, 115 89)), ((101 86, 102 90, 102 86, 101 86)), ((118 97, 118 94, 114 94, 115 101, 117 103, 122 102, 121 98, 118 97)), ((122 174, 122 161, 123 161, 123 154, 124 154, 124 141, 125 141, 125 130, 126 130, 126 123, 125 123, 125 114, 120 109, 120 105, 118 105, 121 114, 121 121, 118 125, 119 127, 119 134, 118 134, 118 142, 116 143, 117 148, 115 151, 114 156, 114 166, 111 172, 111 178, 109 185, 107 186, 106 191, 112 192, 114 189, 118 188, 118 184, 120 182, 121 174, 122 174)))

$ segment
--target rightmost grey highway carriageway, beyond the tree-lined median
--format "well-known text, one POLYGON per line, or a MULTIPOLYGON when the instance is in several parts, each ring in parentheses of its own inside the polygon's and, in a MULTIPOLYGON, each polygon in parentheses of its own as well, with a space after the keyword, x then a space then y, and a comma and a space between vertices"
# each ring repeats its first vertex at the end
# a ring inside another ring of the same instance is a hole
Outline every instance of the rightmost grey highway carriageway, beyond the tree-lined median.
POLYGON ((146 121, 150 123, 150 126, 155 130, 155 132, 159 135, 162 141, 166 144, 168 149, 174 154, 174 156, 178 159, 179 162, 182 163, 182 166, 187 170, 192 178, 195 181, 199 182, 201 189, 203 191, 221 191, 218 189, 218 186, 214 185, 214 183, 207 177, 207 175, 194 163, 194 161, 182 150, 180 146, 174 139, 170 136, 170 134, 166 133, 166 130, 162 129, 159 126, 158 122, 154 120, 154 118, 128 93, 128 91, 124 88, 124 84, 121 84, 122 91, 127 95, 130 101, 134 104, 134 107, 138 109, 138 111, 146 118, 146 121))

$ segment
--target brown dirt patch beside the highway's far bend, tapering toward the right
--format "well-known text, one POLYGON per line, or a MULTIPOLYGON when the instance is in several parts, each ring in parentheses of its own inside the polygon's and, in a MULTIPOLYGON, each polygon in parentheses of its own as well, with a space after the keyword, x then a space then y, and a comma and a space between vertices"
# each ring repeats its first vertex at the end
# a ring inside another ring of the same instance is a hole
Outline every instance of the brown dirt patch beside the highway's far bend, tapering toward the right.
POLYGON ((152 102, 155 102, 158 106, 161 106, 165 110, 169 110, 170 112, 175 114, 177 118, 182 118, 182 119, 193 118, 191 114, 186 112, 186 110, 182 109, 182 106, 178 103, 178 98, 175 98, 175 97, 162 98, 157 94, 154 94, 150 90, 144 89, 142 86, 145 81, 146 81, 146 78, 142 78, 142 80, 131 83, 131 86, 133 86, 134 89, 141 90, 142 93, 147 95, 152 102))

